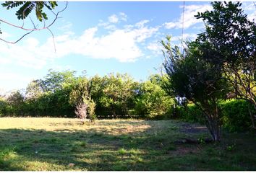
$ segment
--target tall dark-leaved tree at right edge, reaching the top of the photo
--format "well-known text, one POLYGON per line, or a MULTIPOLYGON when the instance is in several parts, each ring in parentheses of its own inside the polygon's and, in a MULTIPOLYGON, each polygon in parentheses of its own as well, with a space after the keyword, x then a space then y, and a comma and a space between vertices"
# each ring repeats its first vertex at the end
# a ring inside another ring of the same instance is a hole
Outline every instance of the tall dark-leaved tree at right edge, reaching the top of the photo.
MULTIPOLYGON (((256 24, 247 19, 240 2, 218 1, 212 5, 213 11, 195 16, 205 21, 206 27, 197 43, 202 45, 205 61, 221 66, 234 92, 256 110, 256 24), (215 56, 210 56, 209 45, 218 52, 215 56)), ((255 128, 255 117, 251 115, 251 119, 255 128)))

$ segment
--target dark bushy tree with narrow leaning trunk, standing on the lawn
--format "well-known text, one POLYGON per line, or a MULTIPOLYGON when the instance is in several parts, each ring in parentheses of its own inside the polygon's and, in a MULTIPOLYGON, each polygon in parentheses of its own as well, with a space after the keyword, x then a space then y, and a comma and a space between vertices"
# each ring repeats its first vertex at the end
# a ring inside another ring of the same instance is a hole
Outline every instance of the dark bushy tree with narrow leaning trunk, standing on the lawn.
MULTIPOLYGON (((169 88, 179 97, 194 102, 205 115, 205 123, 213 141, 221 139, 220 109, 218 102, 223 98, 226 87, 218 66, 205 61, 205 54, 195 42, 187 43, 184 53, 175 46, 171 48, 171 37, 162 41, 166 61, 163 66, 168 75, 169 88)), ((212 55, 216 52, 208 47, 212 55)))

